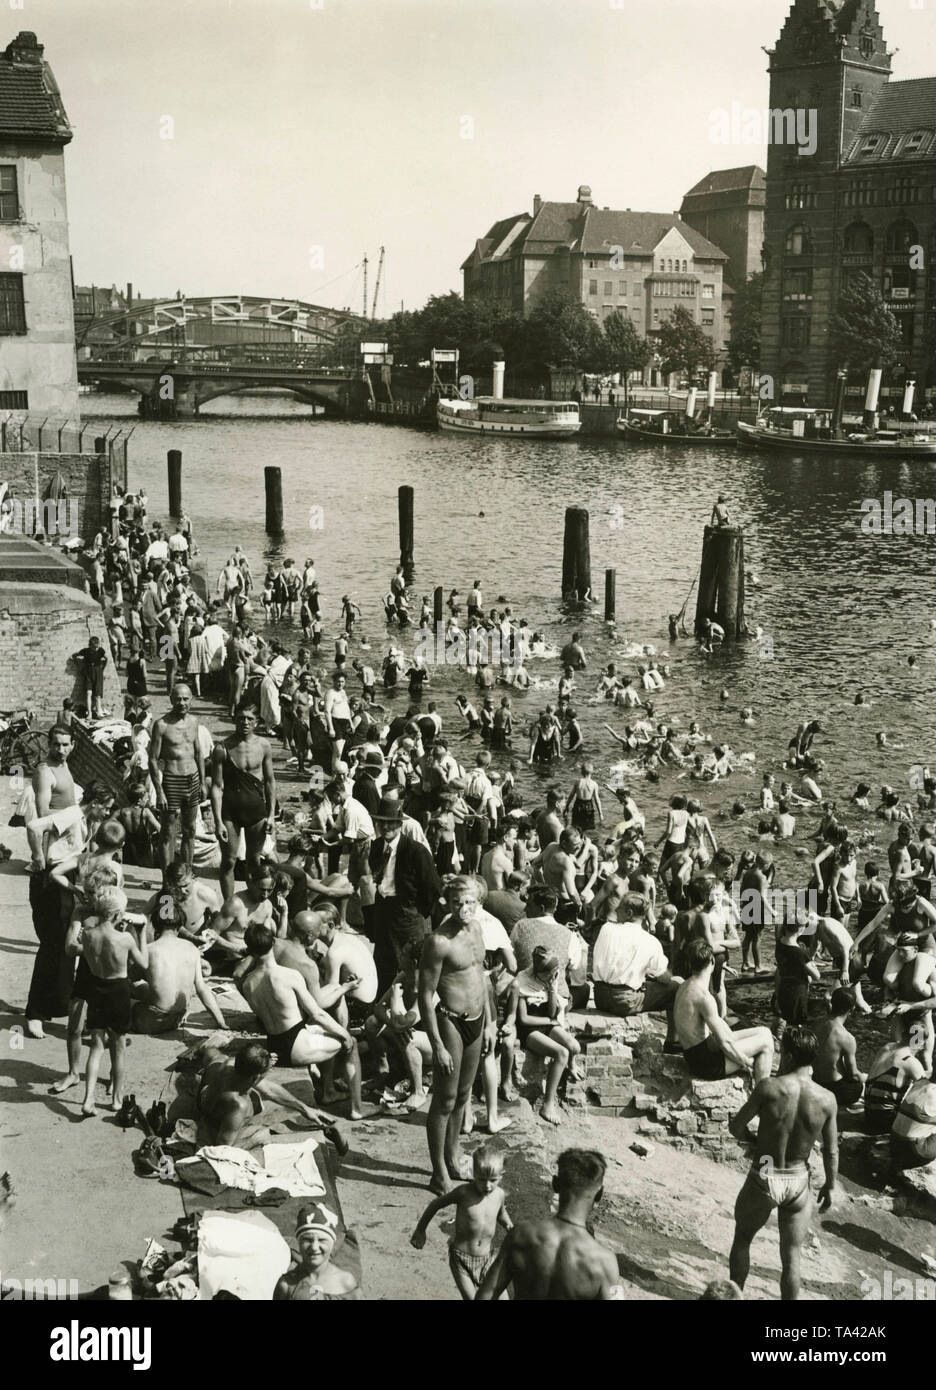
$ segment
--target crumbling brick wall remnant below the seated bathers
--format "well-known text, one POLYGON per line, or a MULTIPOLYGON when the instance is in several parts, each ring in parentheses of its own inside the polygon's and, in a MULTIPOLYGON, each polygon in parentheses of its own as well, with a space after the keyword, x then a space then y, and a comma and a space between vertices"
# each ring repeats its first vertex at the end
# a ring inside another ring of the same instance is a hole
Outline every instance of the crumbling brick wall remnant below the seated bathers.
POLYGON ((681 1056, 663 1052, 663 1022, 652 1015, 618 1019, 588 1011, 569 1022, 579 1031, 586 1079, 569 1083, 567 1105, 594 1115, 640 1115, 640 1131, 652 1140, 719 1162, 743 1158, 727 1127, 748 1094, 741 1077, 693 1080, 681 1056))

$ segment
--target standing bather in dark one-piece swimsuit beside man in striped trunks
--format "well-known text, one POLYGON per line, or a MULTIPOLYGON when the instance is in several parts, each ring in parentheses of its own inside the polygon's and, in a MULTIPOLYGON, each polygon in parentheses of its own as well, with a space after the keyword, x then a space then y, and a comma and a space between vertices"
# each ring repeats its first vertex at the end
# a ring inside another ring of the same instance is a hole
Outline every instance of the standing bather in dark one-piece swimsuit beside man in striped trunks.
POLYGON ((273 831, 277 784, 273 753, 266 738, 257 738, 257 712, 239 705, 234 733, 211 752, 211 812, 221 847, 221 894, 234 897, 234 866, 243 830, 248 865, 259 862, 263 841, 273 831))

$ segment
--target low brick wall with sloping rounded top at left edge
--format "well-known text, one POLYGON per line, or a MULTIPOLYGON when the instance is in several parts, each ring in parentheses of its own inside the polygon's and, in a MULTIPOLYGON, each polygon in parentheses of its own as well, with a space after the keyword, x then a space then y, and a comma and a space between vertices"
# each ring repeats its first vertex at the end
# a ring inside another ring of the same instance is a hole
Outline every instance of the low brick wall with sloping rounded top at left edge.
POLYGON ((99 637, 108 653, 104 709, 122 713, 120 678, 100 605, 90 595, 58 584, 0 585, 0 709, 31 709, 46 727, 65 695, 83 702, 75 652, 99 637))

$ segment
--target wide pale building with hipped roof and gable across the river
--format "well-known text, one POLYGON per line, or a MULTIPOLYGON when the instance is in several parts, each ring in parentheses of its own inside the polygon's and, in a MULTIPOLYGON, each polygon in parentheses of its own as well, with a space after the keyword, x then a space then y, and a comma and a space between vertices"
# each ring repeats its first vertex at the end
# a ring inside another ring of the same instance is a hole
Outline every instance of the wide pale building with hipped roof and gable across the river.
POLYGON ((619 310, 641 336, 681 304, 722 352, 727 342, 727 257, 679 213, 597 207, 581 185, 574 203, 538 195, 533 214, 495 222, 462 264, 465 299, 485 299, 524 317, 547 291, 562 289, 598 321, 619 310))

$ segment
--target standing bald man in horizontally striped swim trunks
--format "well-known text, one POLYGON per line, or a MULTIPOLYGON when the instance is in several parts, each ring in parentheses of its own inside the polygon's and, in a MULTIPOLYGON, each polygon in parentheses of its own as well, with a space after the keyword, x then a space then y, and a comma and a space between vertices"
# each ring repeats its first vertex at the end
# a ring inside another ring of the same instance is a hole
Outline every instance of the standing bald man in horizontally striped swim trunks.
POLYGON ((156 809, 163 827, 159 852, 164 870, 175 858, 179 824, 182 858, 192 863, 199 805, 207 796, 199 721, 189 713, 192 691, 184 684, 174 685, 170 702, 172 709, 153 724, 149 745, 149 774, 156 788, 156 809))

